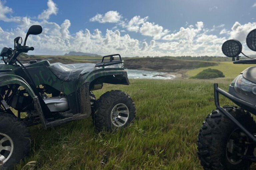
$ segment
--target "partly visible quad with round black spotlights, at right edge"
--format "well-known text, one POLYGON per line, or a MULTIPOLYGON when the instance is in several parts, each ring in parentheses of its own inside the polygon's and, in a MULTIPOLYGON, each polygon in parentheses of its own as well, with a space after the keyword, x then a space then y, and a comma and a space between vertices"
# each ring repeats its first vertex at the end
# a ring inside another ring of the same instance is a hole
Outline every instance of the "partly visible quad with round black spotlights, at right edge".
MULTIPOLYGON (((247 46, 256 51, 256 29, 246 38, 247 46)), ((228 40, 222 52, 232 57, 234 64, 256 64, 242 52, 242 44, 228 40), (250 59, 239 60, 239 54, 250 59), (236 59, 236 60, 235 60, 236 59)), ((228 93, 214 84, 217 107, 205 119, 198 135, 198 157, 204 169, 248 169, 256 162, 256 66, 242 71, 229 85, 228 93), (219 94, 237 106, 219 104, 219 94)))

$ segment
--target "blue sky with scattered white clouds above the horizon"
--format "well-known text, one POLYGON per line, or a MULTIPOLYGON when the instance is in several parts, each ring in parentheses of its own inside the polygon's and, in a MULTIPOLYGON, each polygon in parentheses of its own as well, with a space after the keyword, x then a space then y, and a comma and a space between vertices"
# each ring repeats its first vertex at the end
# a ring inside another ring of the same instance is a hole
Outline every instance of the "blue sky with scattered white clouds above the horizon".
POLYGON ((219 56, 228 39, 253 54, 245 38, 255 22, 256 0, 1 0, 0 47, 40 24, 43 33, 28 40, 31 54, 219 56))

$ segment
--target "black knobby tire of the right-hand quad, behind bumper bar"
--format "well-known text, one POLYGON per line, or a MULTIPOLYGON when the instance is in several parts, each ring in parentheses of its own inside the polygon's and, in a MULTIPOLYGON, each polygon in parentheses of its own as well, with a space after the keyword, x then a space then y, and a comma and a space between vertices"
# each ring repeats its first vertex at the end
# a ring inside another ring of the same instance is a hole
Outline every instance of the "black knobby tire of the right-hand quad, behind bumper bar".
MULTIPOLYGON (((250 113, 234 106, 224 106, 236 120, 238 120, 246 129, 255 133, 256 124, 250 113)), ((251 162, 241 160, 235 165, 230 163, 227 158, 227 142, 230 134, 238 127, 231 122, 219 110, 212 111, 205 119, 198 134, 198 157, 201 165, 206 170, 211 169, 248 169, 251 162)), ((254 146, 253 146, 254 147, 254 146)), ((253 152, 253 147, 248 148, 248 152, 253 152)))

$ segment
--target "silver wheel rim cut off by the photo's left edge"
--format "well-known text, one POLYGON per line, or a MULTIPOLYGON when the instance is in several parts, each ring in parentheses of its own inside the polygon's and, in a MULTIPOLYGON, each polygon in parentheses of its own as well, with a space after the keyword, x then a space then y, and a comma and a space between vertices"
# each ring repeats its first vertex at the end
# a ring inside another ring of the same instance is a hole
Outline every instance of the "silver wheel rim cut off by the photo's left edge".
POLYGON ((13 141, 4 133, 0 133, 0 163, 4 164, 13 152, 13 141))

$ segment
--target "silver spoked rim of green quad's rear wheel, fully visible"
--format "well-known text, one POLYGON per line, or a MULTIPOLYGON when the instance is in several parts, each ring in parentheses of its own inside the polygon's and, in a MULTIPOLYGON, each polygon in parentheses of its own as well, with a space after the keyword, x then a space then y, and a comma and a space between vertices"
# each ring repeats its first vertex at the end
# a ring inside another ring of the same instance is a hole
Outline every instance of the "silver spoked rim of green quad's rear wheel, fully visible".
POLYGON ((110 119, 114 126, 121 127, 126 124, 129 118, 129 109, 123 104, 119 103, 111 111, 110 119))

